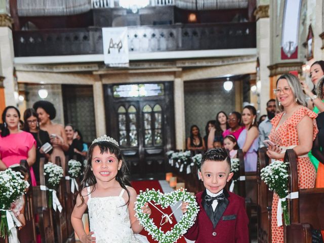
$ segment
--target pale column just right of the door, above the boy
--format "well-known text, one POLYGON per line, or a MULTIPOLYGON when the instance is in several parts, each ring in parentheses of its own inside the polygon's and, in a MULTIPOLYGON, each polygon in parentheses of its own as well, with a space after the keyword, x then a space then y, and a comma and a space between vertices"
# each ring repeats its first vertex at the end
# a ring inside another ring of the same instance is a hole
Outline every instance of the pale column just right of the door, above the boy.
POLYGON ((183 79, 177 76, 174 79, 174 113, 176 149, 185 149, 185 113, 184 113, 184 85, 183 79))

